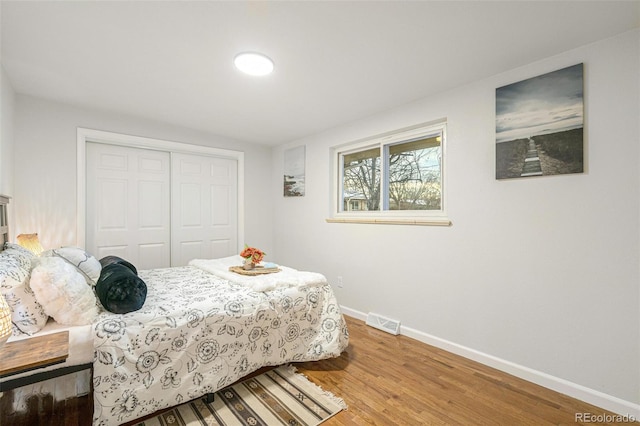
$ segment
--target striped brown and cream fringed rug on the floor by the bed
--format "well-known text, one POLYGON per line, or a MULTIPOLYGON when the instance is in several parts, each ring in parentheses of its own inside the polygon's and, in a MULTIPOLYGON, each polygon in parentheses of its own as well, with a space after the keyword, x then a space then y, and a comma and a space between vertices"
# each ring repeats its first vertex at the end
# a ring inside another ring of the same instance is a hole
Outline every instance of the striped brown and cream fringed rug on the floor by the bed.
POLYGON ((315 426, 344 401, 283 366, 222 389, 212 403, 188 402, 136 426, 315 426))

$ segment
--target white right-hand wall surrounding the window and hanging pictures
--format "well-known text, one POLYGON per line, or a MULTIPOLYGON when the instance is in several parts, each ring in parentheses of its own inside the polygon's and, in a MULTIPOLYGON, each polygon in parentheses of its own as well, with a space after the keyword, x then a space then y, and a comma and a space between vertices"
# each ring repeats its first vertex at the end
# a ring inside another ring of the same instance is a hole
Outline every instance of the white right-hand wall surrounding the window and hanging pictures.
POLYGON ((342 276, 338 300, 351 310, 399 319, 418 334, 637 408, 639 34, 274 149, 275 261, 322 272, 334 283, 342 276), (580 62, 585 64, 586 172, 497 181, 495 89, 580 62), (331 146, 441 117, 448 121, 446 184, 453 226, 325 222, 331 146), (284 198, 283 150, 303 144, 306 195, 284 198))

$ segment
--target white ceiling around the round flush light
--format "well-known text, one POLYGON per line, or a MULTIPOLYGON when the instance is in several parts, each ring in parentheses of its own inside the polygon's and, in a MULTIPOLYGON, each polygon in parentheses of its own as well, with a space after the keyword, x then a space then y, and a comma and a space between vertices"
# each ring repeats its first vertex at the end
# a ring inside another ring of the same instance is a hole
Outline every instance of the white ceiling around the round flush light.
POLYGON ((640 26, 640 1, 2 1, 0 13, 17 93, 264 145, 640 26), (241 51, 274 73, 239 73, 241 51))

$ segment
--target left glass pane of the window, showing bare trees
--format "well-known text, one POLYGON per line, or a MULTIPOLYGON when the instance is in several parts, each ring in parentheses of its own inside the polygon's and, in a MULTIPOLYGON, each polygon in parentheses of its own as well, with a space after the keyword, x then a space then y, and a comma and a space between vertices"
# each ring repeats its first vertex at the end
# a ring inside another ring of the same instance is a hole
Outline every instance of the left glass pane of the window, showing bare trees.
POLYGON ((380 148, 346 154, 342 158, 344 211, 380 210, 380 148))

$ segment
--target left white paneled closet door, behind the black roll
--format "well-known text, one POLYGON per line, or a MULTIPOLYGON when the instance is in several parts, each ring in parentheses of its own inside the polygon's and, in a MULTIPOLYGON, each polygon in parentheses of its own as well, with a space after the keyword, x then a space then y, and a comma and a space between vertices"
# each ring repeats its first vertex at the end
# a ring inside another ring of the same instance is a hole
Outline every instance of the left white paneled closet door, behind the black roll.
POLYGON ((171 265, 171 154, 87 143, 86 244, 138 269, 171 265))

